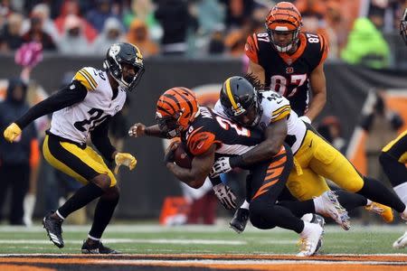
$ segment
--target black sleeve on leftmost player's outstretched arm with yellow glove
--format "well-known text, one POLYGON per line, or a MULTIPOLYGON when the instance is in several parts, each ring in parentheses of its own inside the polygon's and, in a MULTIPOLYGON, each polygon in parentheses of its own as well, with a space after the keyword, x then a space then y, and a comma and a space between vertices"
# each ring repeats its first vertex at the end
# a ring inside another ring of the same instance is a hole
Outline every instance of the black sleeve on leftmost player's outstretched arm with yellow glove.
POLYGON ((31 107, 23 117, 20 117, 15 121, 17 126, 24 129, 34 119, 43 117, 44 115, 58 111, 64 107, 70 107, 82 101, 88 90, 83 86, 80 81, 74 80, 63 89, 60 89, 57 93, 52 94, 49 98, 44 99, 42 102, 31 107))

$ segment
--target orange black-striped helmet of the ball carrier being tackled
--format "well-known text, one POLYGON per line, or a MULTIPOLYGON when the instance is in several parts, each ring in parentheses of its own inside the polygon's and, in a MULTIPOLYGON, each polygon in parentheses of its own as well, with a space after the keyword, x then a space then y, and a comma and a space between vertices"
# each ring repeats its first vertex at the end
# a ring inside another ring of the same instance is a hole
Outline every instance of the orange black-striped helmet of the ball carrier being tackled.
POLYGON ((194 121, 198 101, 191 89, 168 89, 156 102, 156 121, 167 137, 178 136, 194 121))

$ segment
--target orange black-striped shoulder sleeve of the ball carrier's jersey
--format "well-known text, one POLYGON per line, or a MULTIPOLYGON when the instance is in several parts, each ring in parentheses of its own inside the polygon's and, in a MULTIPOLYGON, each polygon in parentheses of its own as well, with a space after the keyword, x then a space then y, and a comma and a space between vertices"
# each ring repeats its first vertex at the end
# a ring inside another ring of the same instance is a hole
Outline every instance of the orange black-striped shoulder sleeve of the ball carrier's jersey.
POLYGON ((202 131, 202 126, 189 135, 186 146, 193 155, 204 154, 211 145, 215 144, 215 135, 211 132, 202 131))

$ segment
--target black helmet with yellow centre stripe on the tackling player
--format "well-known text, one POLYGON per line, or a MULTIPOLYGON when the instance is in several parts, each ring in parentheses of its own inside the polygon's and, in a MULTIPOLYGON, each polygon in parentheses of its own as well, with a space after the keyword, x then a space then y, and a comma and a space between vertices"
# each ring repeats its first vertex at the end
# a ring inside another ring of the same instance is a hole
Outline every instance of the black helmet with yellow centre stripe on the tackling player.
POLYGON ((256 126, 261 117, 260 100, 256 89, 241 76, 226 79, 220 94, 225 114, 241 126, 256 126), (243 121, 243 118, 246 120, 243 121))

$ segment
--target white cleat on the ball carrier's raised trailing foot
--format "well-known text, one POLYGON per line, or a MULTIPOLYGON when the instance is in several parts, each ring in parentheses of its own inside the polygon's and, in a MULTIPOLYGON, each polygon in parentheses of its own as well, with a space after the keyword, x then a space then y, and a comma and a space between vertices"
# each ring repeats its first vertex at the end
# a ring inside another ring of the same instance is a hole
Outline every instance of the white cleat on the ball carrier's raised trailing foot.
POLYGON ((326 217, 330 217, 339 224, 342 229, 350 229, 349 216, 344 207, 337 201, 337 195, 333 191, 324 192, 314 199, 315 209, 326 217))

